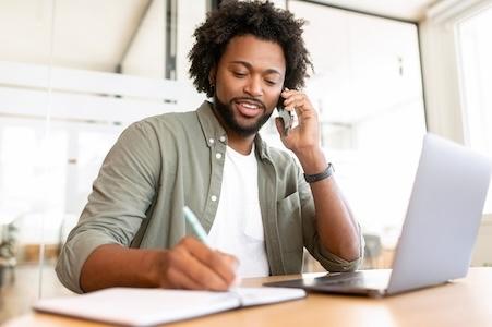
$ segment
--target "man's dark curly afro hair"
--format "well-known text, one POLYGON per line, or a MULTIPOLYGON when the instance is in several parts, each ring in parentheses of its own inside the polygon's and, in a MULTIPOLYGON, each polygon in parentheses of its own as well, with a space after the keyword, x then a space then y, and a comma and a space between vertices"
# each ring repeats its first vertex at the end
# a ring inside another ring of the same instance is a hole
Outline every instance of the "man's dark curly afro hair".
POLYGON ((231 38, 251 34, 283 48, 286 58, 284 87, 303 87, 304 78, 309 77, 308 66, 313 69, 302 39, 303 24, 303 20, 296 20, 289 11, 276 9, 271 2, 225 2, 218 10, 209 12, 193 34, 196 41, 188 55, 193 84, 199 92, 212 97, 211 70, 218 64, 231 38))

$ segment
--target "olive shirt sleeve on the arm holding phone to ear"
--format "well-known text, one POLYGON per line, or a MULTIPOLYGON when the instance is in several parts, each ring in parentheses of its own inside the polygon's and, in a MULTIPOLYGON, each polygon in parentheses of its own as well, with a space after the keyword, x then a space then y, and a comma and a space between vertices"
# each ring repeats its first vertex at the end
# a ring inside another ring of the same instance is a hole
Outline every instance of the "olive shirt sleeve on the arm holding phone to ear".
POLYGON ((336 254, 333 254, 323 246, 320 235, 317 234, 314 201, 311 193, 311 187, 308 182, 304 181, 301 171, 299 173, 299 194, 301 199, 302 230, 305 249, 327 271, 335 272, 357 270, 362 264, 364 253, 364 241, 360 226, 358 225, 360 240, 359 257, 349 262, 336 254))

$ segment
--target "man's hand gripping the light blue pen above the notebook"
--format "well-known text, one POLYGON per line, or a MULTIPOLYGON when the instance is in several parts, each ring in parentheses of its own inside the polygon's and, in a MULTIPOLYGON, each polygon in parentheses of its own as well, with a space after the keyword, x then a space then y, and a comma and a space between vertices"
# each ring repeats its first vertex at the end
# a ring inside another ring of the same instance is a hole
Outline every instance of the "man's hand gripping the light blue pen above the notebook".
POLYGON ((225 291, 236 279, 238 259, 192 237, 161 254, 159 287, 225 291))

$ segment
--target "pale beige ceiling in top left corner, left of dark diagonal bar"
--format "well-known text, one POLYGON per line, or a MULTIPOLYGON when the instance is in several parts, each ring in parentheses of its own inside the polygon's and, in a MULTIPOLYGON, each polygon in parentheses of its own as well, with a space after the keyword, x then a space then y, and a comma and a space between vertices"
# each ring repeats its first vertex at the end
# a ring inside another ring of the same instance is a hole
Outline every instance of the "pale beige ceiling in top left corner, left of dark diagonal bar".
POLYGON ((115 71, 148 1, 1 0, 0 60, 115 71))

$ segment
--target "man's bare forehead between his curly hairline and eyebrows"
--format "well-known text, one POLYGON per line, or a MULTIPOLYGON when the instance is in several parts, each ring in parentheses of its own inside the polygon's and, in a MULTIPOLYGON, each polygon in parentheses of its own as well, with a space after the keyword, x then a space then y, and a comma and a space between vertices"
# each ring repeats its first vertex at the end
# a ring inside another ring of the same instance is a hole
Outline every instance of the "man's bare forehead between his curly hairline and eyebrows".
POLYGON ((229 40, 220 63, 248 62, 253 68, 274 69, 285 73, 286 60, 280 45, 253 35, 235 36, 229 40))

